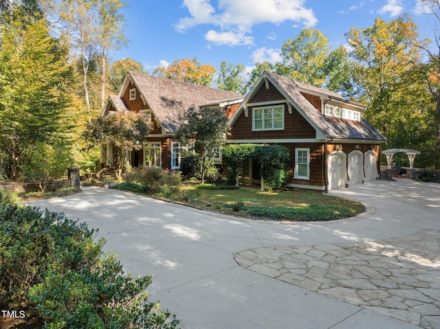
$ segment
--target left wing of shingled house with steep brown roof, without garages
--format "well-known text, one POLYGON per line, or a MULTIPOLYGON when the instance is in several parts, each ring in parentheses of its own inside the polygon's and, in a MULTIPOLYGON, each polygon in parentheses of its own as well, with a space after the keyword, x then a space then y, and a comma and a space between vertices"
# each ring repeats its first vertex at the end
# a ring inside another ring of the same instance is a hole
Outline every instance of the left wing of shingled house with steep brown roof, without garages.
MULTIPOLYGON (((223 109, 230 118, 244 96, 197 84, 129 71, 118 95, 110 95, 102 111, 135 111, 144 113, 153 124, 142 150, 133 151, 128 162, 133 167, 155 166, 164 169, 180 168, 180 146, 173 135, 179 128, 179 115, 191 106, 223 109)), ((109 166, 112 148, 102 146, 101 166, 109 166)))

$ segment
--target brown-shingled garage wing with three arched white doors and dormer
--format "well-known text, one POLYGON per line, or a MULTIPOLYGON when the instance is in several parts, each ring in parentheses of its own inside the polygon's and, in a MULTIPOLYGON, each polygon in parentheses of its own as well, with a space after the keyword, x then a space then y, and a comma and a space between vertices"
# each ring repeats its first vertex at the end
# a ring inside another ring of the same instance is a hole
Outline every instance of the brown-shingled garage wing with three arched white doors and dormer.
MULTIPOLYGON (((230 118, 230 144, 277 144, 292 158, 289 187, 332 190, 374 181, 386 138, 365 120, 366 106, 339 93, 265 71, 230 118)), ((241 183, 259 182, 248 161, 241 183)))

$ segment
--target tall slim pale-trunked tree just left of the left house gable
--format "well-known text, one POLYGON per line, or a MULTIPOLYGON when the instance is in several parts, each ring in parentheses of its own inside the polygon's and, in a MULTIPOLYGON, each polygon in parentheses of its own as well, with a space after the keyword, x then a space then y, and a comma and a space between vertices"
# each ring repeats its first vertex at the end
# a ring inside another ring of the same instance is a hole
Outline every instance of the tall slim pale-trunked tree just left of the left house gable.
POLYGON ((120 49, 126 44, 123 34, 124 15, 120 10, 127 6, 121 0, 98 0, 98 38, 100 47, 101 69, 101 109, 105 102, 105 87, 107 85, 107 65, 109 51, 120 49))

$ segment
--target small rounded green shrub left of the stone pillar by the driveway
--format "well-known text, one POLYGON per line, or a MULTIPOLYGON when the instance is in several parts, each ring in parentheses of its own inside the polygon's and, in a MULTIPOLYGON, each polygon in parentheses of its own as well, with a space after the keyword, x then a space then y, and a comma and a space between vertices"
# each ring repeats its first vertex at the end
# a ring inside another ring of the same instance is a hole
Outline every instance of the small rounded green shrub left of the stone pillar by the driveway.
POLYGON ((38 184, 42 193, 46 192, 51 181, 64 176, 71 163, 65 146, 42 143, 34 146, 28 159, 28 163, 21 166, 25 181, 38 184))

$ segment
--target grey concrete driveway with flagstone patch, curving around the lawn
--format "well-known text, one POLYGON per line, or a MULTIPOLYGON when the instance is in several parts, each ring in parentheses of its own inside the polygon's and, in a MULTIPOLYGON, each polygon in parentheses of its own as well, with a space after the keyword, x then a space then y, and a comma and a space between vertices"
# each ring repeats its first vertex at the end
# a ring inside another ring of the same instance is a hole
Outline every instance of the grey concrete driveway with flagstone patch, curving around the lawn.
POLYGON ((426 271, 440 277, 440 185, 376 181, 331 194, 359 200, 367 212, 326 223, 240 220, 102 188, 31 204, 98 227, 98 238, 107 240, 107 251, 118 251, 127 273, 153 275, 149 298, 160 299, 184 329, 440 328, 438 279, 423 291, 415 281, 412 286, 410 280, 393 281, 397 270, 382 271, 377 265, 388 260, 399 269, 404 260, 412 272, 401 277, 426 271), (423 232, 430 233, 428 249, 433 251, 421 256, 413 250, 408 257, 412 246, 428 240, 423 232), (372 245, 376 251, 391 246, 395 253, 388 259, 381 252, 382 258, 375 260, 367 250, 372 245), (329 257, 337 248, 350 252, 329 257), (300 253, 307 257, 298 258, 300 253), (368 257, 350 259, 359 254, 368 257), (322 267, 325 271, 319 271, 322 267), (360 277, 353 277, 358 275, 353 269, 361 270, 360 277), (336 270, 351 276, 335 277, 336 270), (384 295, 381 291, 388 292, 380 284, 364 286, 364 279, 374 280, 373 275, 393 281, 387 288, 394 288, 393 294, 384 295), (419 297, 399 295, 410 288, 418 288, 419 297), (388 297, 394 299, 384 305, 388 297))

